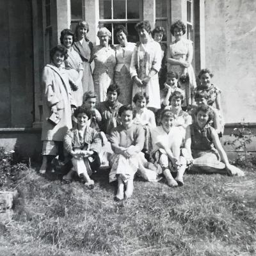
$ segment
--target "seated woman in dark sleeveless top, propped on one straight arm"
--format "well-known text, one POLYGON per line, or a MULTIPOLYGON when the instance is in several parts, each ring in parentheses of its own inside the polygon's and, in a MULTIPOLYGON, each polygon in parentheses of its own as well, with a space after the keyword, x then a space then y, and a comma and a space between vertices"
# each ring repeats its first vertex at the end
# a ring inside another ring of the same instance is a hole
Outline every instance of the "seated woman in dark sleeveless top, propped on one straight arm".
POLYGON ((244 172, 228 162, 216 130, 211 127, 213 113, 209 106, 196 108, 195 122, 186 129, 185 148, 193 161, 191 170, 244 176, 244 172))

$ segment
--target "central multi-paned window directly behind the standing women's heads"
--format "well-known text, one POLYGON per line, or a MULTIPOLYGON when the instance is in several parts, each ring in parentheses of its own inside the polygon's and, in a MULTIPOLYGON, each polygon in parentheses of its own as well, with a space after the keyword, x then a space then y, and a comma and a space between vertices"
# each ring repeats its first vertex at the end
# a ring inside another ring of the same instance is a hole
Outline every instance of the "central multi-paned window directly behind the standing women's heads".
POLYGON ((99 0, 99 28, 106 27, 111 31, 112 44, 118 44, 114 34, 118 25, 128 31, 128 41, 140 40, 134 26, 143 19, 143 0, 99 0))

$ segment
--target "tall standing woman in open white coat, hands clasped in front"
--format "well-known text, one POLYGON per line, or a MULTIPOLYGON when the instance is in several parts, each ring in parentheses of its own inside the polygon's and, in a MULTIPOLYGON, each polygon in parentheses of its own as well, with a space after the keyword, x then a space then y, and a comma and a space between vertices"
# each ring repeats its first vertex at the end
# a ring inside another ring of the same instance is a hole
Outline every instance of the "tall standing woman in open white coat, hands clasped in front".
POLYGON ((161 47, 151 35, 148 20, 135 26, 140 36, 140 43, 132 53, 130 73, 134 81, 132 96, 137 92, 145 92, 149 97, 148 108, 156 111, 160 106, 160 90, 158 72, 161 68, 161 47))

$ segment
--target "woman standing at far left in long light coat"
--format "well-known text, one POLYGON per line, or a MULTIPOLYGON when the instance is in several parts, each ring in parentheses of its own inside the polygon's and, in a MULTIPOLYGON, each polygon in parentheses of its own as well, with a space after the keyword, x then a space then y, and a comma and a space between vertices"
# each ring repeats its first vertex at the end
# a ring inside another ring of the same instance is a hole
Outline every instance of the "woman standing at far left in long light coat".
POLYGON ((43 86, 43 162, 40 173, 44 174, 55 156, 63 160, 63 138, 72 128, 72 92, 68 83, 67 70, 63 61, 67 60, 67 49, 57 45, 50 51, 51 63, 44 67, 42 74, 43 86))

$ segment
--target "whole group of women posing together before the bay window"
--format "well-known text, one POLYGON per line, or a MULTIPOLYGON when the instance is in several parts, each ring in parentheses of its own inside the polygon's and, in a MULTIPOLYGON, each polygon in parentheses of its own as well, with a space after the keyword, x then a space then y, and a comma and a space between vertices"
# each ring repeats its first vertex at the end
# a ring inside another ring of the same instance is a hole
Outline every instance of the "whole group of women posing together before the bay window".
POLYGON ((151 31, 145 20, 135 28, 140 36, 136 44, 127 42, 124 26, 117 26, 120 44, 115 47, 109 44, 107 28, 99 29, 100 44, 93 46, 84 21, 78 22, 75 33, 61 31, 61 45, 51 49, 51 63, 42 76, 40 173, 58 156, 59 161, 72 162, 65 180, 76 172, 92 188, 90 174, 107 152, 109 180, 118 180, 118 200, 132 195, 137 171, 154 181, 163 173, 172 187, 184 184, 183 174, 191 164, 204 172, 243 175, 228 163, 221 147, 220 93, 209 70, 200 72, 196 88, 186 26, 180 20, 172 24, 175 41, 168 47, 161 42, 162 27, 151 31), (191 108, 194 95, 198 101, 191 108))

